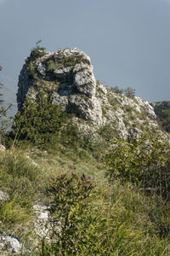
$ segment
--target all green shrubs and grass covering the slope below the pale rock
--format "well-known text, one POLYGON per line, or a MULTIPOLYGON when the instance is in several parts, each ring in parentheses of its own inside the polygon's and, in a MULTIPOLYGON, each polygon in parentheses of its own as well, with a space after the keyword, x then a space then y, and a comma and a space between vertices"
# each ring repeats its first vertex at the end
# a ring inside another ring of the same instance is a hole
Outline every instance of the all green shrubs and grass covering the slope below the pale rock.
POLYGON ((0 154, 0 188, 8 194, 0 201, 0 231, 20 237, 32 255, 169 255, 165 138, 120 138, 111 125, 95 136, 80 131, 50 90, 37 90, 16 114, 8 140, 12 147, 0 154), (41 239, 34 230, 38 203, 48 205, 51 224, 41 239))

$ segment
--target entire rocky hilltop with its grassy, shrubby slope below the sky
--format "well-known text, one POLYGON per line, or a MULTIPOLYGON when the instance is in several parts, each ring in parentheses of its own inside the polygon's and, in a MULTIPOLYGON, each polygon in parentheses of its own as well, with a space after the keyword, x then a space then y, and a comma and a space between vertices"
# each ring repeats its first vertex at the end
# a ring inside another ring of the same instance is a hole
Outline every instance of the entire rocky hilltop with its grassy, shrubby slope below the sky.
POLYGON ((1 255, 169 255, 170 143, 80 49, 31 49, 1 137, 1 255))

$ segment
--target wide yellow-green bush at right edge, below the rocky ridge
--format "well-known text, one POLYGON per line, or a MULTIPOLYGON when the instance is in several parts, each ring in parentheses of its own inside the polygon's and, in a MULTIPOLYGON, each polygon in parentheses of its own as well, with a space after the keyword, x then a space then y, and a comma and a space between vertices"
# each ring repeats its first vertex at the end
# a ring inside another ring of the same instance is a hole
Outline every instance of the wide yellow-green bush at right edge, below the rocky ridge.
POLYGON ((170 195, 170 145, 154 135, 136 138, 133 142, 114 139, 113 149, 105 156, 106 175, 111 179, 121 177, 142 185, 169 199, 170 195))

